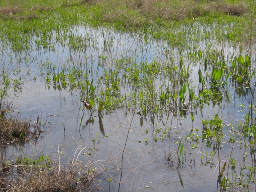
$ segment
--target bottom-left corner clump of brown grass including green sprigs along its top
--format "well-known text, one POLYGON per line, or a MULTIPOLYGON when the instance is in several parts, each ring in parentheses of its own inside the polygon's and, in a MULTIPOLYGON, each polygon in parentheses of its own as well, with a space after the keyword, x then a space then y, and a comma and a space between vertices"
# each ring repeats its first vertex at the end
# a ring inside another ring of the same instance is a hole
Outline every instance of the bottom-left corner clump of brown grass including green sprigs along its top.
POLYGON ((80 192, 93 191, 98 173, 89 166, 73 163, 54 164, 43 154, 37 159, 19 157, 15 162, 1 163, 0 188, 3 191, 80 192))

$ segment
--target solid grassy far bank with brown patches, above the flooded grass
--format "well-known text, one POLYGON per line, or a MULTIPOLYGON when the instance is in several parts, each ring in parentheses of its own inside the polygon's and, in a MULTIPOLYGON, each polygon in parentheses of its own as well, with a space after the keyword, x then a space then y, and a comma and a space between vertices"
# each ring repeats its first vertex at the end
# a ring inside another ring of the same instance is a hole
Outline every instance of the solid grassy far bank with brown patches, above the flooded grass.
POLYGON ((243 24, 254 17, 255 3, 250 0, 56 0, 56 1, 1 1, 0 18, 2 25, 8 23, 20 26, 18 31, 29 32, 36 21, 48 21, 47 25, 36 25, 34 32, 41 28, 65 28, 72 24, 110 24, 118 29, 170 28, 176 21, 213 22, 225 20, 228 24, 243 24), (5 21, 5 22, 4 22, 5 21), (28 26, 24 23, 28 22, 28 26))

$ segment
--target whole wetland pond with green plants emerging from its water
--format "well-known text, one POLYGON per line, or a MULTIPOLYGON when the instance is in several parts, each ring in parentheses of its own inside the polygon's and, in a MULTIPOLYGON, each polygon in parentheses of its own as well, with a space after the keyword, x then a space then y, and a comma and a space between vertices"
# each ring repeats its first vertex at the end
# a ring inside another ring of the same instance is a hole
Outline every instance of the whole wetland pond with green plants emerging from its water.
POLYGON ((182 49, 81 26, 2 40, 2 101, 43 133, 1 154, 90 162, 102 191, 255 191, 255 58, 193 34, 182 49))

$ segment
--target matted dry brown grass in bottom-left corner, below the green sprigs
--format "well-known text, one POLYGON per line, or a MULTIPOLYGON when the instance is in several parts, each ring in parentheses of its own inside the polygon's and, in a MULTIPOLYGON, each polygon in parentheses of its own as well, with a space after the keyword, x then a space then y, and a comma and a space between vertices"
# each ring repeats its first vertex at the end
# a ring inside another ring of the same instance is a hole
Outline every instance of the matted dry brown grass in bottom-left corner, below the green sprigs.
MULTIPOLYGON (((83 166, 44 168, 31 165, 26 166, 26 172, 0 176, 0 191, 8 192, 82 192, 94 191, 93 182, 98 176, 83 166)), ((25 169, 24 169, 25 170, 25 169)))

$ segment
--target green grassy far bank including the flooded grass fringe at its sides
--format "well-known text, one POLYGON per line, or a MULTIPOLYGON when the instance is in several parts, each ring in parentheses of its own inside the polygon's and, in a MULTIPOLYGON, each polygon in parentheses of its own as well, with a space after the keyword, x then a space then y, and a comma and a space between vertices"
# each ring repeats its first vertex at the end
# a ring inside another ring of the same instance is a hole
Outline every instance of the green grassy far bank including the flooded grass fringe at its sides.
POLYGON ((0 6, 2 47, 12 42, 17 52, 31 49, 34 37, 40 37, 36 47, 50 50, 55 42, 65 43, 71 27, 81 25, 147 34, 180 51, 193 33, 194 42, 215 38, 244 46, 256 35, 255 2, 249 0, 21 0, 2 1, 0 6), (202 31, 202 25, 210 32, 202 31))

